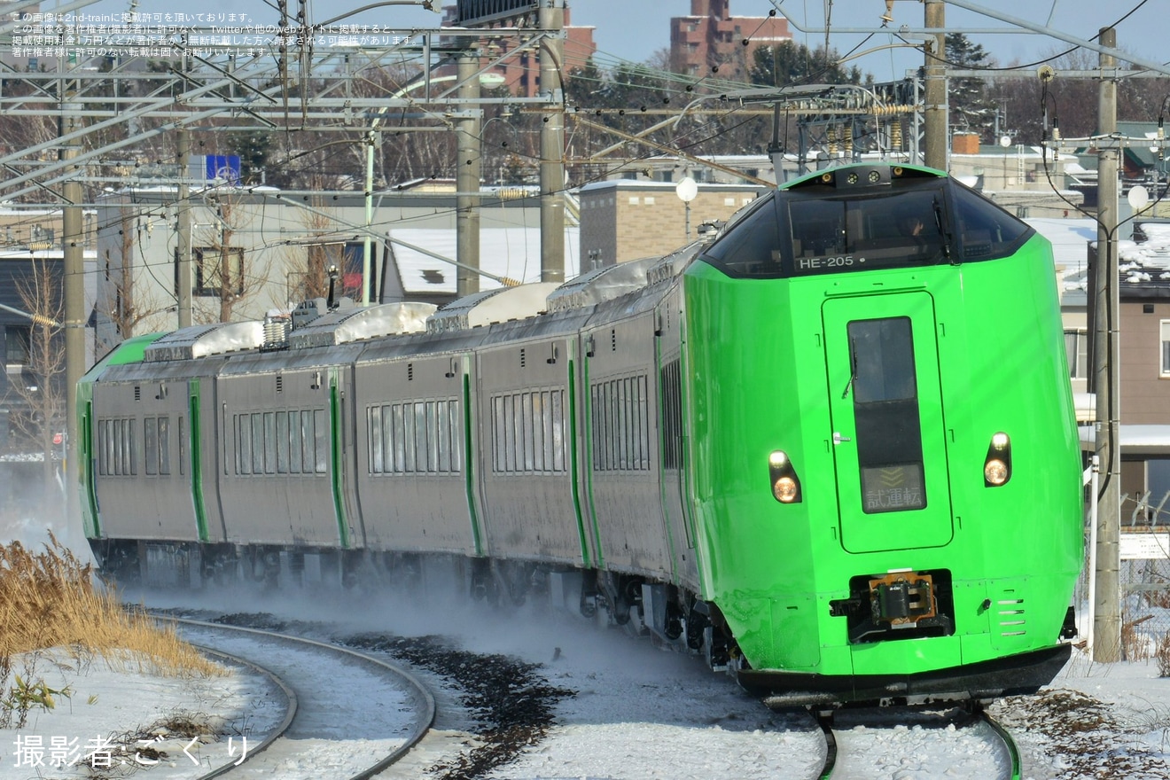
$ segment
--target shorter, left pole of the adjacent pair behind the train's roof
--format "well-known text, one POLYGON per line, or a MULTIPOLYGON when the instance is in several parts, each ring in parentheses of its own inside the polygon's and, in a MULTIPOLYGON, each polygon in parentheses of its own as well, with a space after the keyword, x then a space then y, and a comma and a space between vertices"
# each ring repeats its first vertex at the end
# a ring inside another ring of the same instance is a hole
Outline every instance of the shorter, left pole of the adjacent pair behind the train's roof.
MULTIPOLYGON (((480 97, 480 55, 472 43, 459 55, 459 97, 480 97)), ((459 297, 480 291, 480 178, 483 156, 480 152, 482 109, 464 104, 460 109, 456 133, 459 145, 455 173, 455 294, 459 297)))

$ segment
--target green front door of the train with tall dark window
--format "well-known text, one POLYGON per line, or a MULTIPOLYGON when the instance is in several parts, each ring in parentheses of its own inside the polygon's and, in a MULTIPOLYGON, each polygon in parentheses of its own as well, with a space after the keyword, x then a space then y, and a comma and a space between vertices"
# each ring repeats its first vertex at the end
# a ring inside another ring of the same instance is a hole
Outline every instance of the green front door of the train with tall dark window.
POLYGON ((821 316, 841 545, 863 553, 948 544, 934 299, 831 298, 821 316))

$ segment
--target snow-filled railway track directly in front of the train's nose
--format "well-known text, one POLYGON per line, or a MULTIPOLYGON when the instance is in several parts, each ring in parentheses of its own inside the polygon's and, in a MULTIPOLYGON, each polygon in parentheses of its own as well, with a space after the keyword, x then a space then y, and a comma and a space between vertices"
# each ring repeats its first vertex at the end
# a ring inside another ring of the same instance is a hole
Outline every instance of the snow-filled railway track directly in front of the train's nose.
POLYGON ((825 737, 819 780, 917 776, 916 772, 941 774, 944 769, 948 776, 1021 778, 1016 741, 978 705, 812 715, 825 737))

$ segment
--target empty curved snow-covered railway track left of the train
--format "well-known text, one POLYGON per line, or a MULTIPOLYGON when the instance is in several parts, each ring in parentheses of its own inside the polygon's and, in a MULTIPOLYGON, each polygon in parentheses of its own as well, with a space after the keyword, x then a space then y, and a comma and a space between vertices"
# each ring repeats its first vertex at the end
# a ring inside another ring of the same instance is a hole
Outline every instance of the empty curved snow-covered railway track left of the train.
POLYGON ((434 722, 427 688, 380 658, 259 628, 156 617, 214 655, 261 669, 289 702, 283 722, 262 743, 243 752, 238 740, 235 754, 222 751, 219 765, 199 780, 290 773, 365 780, 401 759, 434 722))

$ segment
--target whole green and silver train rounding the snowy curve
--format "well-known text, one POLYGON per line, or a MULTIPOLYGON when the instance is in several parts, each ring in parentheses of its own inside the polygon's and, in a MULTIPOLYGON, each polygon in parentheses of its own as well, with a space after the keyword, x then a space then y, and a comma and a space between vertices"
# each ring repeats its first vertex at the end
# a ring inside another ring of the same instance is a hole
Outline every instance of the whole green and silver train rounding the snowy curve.
POLYGON ((548 598, 778 704, 993 698, 1069 655, 1051 247, 938 171, 818 172, 559 287, 128 341, 78 403, 122 574, 548 598))

